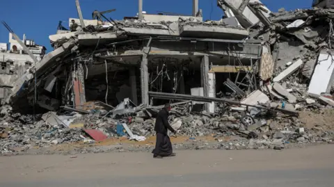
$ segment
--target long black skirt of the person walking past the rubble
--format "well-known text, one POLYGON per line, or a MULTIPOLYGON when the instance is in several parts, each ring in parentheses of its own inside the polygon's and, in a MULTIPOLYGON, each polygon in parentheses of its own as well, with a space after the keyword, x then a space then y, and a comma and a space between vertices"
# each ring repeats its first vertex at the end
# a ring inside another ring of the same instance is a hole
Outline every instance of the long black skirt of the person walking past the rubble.
POLYGON ((169 156, 173 153, 172 143, 167 134, 157 133, 157 143, 155 143, 155 149, 152 154, 159 156, 169 156))

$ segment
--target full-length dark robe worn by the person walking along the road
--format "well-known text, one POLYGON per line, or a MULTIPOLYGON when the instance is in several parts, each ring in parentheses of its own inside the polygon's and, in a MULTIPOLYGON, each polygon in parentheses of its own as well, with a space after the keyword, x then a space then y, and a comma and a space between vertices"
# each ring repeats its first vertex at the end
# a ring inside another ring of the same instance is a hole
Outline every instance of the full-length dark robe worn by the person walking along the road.
POLYGON ((173 153, 172 143, 167 135, 168 129, 175 133, 173 127, 168 123, 168 111, 163 108, 159 111, 157 120, 155 121, 154 131, 157 132, 157 142, 155 143, 155 149, 152 153, 157 156, 169 156, 173 153))

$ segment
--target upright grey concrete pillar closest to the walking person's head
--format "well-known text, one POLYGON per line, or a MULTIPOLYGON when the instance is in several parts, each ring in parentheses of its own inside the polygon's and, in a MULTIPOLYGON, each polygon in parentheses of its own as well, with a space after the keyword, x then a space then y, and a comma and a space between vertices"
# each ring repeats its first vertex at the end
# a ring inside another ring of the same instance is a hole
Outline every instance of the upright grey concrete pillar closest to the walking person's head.
POLYGON ((149 104, 148 97, 148 56, 143 55, 141 59, 141 103, 149 104))

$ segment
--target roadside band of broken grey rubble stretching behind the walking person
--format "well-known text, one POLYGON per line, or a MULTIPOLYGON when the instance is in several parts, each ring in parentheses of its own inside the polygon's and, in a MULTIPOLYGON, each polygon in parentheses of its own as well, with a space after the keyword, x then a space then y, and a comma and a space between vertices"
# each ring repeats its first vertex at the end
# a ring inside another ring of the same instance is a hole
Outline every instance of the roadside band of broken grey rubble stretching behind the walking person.
MULTIPOLYGON (((200 136, 213 137, 216 140, 214 147, 219 149, 221 147, 225 149, 282 149, 293 143, 299 145, 331 143, 334 138, 334 126, 331 124, 326 127, 318 123, 319 126, 310 127, 305 120, 302 122, 299 117, 282 113, 272 115, 267 111, 262 111, 264 113, 260 117, 251 117, 250 119, 253 119, 254 122, 248 124, 243 121, 243 117, 250 115, 232 111, 231 108, 223 115, 191 112, 186 109, 187 107, 182 106, 175 106, 175 108, 171 111, 168 120, 172 127, 177 129, 179 136, 193 137, 194 140, 200 136), (182 110, 178 111, 175 108, 182 108, 182 110), (225 137, 234 138, 226 143, 223 142, 225 137)), ((316 102, 310 104, 305 102, 301 108, 305 111, 312 111, 312 113, 332 110, 316 102)), ((159 111, 159 108, 148 107, 137 113, 118 116, 106 116, 96 111, 86 115, 79 113, 56 115, 56 119, 65 119, 60 121, 38 116, 38 119, 45 119, 38 122, 33 122, 32 115, 8 113, 1 119, 3 124, 0 127, 0 149, 3 154, 8 154, 8 152, 24 152, 34 147, 95 142, 94 137, 86 133, 85 129, 100 131, 106 138, 129 137, 126 129, 122 128, 119 131, 118 126, 122 123, 127 123, 131 133, 136 136, 154 136, 154 117, 149 115, 144 117, 143 114, 137 116, 138 113, 148 111, 154 115, 153 111, 159 111)), ((47 113, 44 116, 52 115, 47 113)), ((198 149, 198 145, 184 146, 187 149, 198 149)))

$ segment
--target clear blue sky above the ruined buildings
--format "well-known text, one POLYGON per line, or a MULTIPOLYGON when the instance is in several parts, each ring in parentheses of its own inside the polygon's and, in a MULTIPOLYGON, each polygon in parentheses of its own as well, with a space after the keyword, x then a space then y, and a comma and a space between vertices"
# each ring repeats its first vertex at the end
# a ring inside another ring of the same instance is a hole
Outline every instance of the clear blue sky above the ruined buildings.
MULTIPOLYGON (((22 39, 35 40, 51 50, 49 35, 56 33, 58 22, 68 26, 70 17, 78 17, 75 0, 0 0, 0 20, 7 22, 11 29, 22 39)), ((138 12, 138 0, 79 0, 84 19, 92 19, 94 10, 104 11, 116 8, 116 12, 107 17, 122 19, 135 16, 138 12)), ((277 12, 279 8, 295 10, 310 8, 312 0, 262 0, 269 10, 277 12)), ((223 10, 216 6, 216 0, 199 0, 203 18, 218 20, 223 10)), ((192 0, 143 0, 143 11, 156 14, 158 11, 191 15, 192 0)), ((0 25, 0 42, 8 43, 8 31, 0 25)))

